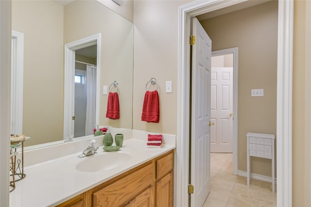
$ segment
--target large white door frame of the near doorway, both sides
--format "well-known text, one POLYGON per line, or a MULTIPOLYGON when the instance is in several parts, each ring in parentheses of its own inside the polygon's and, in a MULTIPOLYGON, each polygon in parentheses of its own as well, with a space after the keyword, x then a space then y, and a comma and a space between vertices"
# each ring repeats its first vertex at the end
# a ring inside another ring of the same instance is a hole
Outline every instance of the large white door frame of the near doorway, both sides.
MULTIPOLYGON (((179 7, 175 206, 188 204, 190 134, 190 18, 246 0, 196 0, 179 7)), ((277 44, 277 205, 292 206, 292 97, 294 1, 278 1, 277 44)), ((246 136, 246 135, 245 135, 246 136)))

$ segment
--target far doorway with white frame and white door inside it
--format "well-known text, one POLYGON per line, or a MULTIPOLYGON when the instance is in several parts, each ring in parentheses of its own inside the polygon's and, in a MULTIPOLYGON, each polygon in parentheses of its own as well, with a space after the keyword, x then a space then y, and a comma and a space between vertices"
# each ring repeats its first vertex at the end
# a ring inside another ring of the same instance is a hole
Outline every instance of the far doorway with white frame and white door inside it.
POLYGON ((211 127, 211 152, 232 153, 233 174, 237 175, 238 48, 212 51, 211 63, 211 122, 215 123, 215 125, 211 127), (218 83, 217 86, 215 85, 216 83, 218 83), (221 96, 216 97, 217 90, 218 94, 221 94, 221 96), (217 102, 215 102, 215 100, 217 100, 217 102), (218 120, 214 117, 218 117, 218 120))

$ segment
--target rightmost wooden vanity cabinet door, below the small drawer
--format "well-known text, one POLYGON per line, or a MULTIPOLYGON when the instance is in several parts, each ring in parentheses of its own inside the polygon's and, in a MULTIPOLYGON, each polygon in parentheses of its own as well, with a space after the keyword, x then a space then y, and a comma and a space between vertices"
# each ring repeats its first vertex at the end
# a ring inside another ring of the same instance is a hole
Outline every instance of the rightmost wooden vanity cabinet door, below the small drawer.
POLYGON ((156 182, 156 207, 173 207, 173 173, 156 182))

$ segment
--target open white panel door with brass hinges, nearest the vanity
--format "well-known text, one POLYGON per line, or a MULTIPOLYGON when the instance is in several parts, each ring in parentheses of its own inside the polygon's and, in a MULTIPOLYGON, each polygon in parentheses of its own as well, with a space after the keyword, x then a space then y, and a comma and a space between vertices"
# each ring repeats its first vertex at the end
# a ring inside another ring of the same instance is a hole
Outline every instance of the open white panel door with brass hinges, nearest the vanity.
POLYGON ((191 207, 202 207, 209 193, 210 182, 210 73, 211 40, 194 18, 192 35, 196 43, 192 46, 191 89, 191 207))

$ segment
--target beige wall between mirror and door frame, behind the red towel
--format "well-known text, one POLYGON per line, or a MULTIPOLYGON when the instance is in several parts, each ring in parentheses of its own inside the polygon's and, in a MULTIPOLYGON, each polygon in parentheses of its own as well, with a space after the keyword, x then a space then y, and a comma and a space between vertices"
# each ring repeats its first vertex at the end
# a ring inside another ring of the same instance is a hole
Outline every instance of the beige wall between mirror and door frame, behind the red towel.
POLYGON ((133 128, 177 133, 178 6, 190 1, 134 1, 133 128), (141 121, 145 85, 155 78, 159 85, 160 122, 141 121), (173 93, 165 93, 165 81, 173 93))

